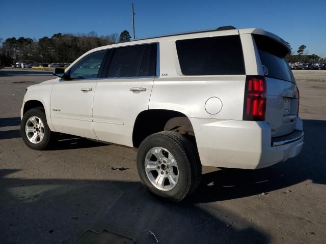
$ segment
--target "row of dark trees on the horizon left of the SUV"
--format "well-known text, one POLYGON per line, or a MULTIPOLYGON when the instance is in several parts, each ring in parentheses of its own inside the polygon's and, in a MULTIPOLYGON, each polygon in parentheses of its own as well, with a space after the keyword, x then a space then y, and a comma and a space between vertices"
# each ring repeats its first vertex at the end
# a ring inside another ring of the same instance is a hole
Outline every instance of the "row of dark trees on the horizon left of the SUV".
MULTIPOLYGON (((130 41, 130 35, 123 31, 106 36, 96 32, 87 34, 57 33, 38 40, 20 37, 8 38, 0 45, 0 64, 10 65, 20 60, 36 63, 71 63, 85 52, 100 46, 130 41)), ((2 40, 0 40, 1 43, 2 40)))

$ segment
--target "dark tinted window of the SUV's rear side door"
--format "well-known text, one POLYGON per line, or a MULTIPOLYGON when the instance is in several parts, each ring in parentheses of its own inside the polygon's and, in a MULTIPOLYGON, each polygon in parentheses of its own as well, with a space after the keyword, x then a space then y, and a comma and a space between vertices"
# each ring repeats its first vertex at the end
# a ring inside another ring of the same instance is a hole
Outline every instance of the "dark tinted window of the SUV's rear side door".
POLYGON ((155 76, 156 43, 115 48, 107 77, 155 76))

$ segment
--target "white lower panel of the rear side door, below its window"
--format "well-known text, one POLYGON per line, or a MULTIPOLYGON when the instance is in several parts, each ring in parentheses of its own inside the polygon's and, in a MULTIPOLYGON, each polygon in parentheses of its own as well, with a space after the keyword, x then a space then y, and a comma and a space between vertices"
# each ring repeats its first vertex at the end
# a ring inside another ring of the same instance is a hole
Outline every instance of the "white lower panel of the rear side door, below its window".
POLYGON ((98 80, 94 96, 93 127, 99 140, 132 146, 134 121, 140 112, 148 109, 153 79, 150 77, 98 80), (138 87, 146 90, 143 92, 130 90, 138 87))

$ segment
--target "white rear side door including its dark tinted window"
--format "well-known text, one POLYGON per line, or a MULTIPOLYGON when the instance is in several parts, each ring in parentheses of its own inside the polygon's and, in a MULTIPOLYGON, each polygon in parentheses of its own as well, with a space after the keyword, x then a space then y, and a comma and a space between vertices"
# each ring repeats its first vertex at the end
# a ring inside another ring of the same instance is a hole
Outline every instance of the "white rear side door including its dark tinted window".
POLYGON ((157 44, 110 49, 106 78, 98 80, 93 127, 99 140, 132 146, 137 115, 148 109, 156 75, 157 44))

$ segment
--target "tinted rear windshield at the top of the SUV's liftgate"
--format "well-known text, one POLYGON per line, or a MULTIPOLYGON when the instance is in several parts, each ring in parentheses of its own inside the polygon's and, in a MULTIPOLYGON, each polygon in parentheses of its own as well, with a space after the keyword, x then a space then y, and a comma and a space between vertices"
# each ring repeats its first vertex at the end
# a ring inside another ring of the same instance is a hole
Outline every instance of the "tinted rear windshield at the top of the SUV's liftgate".
POLYGON ((281 43, 262 35, 253 35, 261 64, 266 66, 266 77, 295 82, 292 71, 285 60, 288 50, 281 43))

